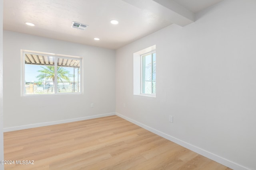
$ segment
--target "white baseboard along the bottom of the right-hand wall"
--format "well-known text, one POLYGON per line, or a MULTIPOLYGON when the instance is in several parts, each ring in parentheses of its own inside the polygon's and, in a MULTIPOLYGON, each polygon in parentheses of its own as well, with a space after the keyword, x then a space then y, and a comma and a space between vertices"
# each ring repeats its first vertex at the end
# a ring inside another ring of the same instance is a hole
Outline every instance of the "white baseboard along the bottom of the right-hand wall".
POLYGON ((237 164, 235 162, 227 160, 226 158, 222 158, 221 156, 218 156, 216 154, 208 152, 207 150, 204 150, 204 149, 201 149, 201 148, 196 147, 194 145, 191 145, 191 144, 189 144, 189 143, 187 143, 185 141, 177 139, 176 137, 172 137, 171 135, 168 135, 166 133, 163 133, 161 131, 153 129, 152 127, 144 125, 144 124, 142 124, 142 123, 140 123, 138 121, 130 119, 129 117, 126 117, 126 116, 124 116, 124 115, 122 115, 120 113, 116 113, 116 115, 119 116, 119 117, 122 117, 123 119, 126 119, 127 121, 130 121, 131 123, 134 123, 135 125, 138 125, 138 126, 144 128, 144 129, 146 129, 146 130, 148 130, 148 131, 150 131, 152 133, 155 133, 156 135, 159 135, 159 136, 161 136, 161 137, 163 137, 165 139, 168 139, 169 141, 177 143, 178 145, 181 145, 182 147, 185 147, 185 148, 190 149, 190 150, 192 150, 192 151, 194 151, 194 152, 196 152, 196 153, 198 153, 198 154, 200 154, 202 156, 205 156, 206 158, 214 160, 214 161, 216 161, 216 162, 218 162, 218 163, 220 163, 222 165, 228 166, 229 168, 232 168, 234 170, 250 170, 250 169, 248 169, 248 168, 246 168, 246 167, 244 167, 242 165, 239 165, 239 164, 237 164))

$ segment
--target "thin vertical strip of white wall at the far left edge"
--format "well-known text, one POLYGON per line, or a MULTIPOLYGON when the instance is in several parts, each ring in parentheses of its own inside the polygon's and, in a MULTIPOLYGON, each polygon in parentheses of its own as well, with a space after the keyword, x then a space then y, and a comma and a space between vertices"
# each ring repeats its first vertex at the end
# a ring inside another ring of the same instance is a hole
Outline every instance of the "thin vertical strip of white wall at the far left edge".
MULTIPOLYGON (((0 0, 0 160, 4 160, 4 136, 3 136, 3 0, 0 0)), ((0 164, 0 170, 4 165, 0 164)))

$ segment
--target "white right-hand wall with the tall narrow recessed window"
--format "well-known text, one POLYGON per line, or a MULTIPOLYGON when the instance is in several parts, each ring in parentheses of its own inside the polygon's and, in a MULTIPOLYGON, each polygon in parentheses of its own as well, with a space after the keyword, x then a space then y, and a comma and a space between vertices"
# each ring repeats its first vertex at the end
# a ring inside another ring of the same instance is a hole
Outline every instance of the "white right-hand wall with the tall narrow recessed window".
POLYGON ((255 9, 255 0, 224 0, 190 25, 118 49, 117 114, 231 168, 256 169, 255 9), (133 95, 133 53, 152 45, 156 98, 133 95))

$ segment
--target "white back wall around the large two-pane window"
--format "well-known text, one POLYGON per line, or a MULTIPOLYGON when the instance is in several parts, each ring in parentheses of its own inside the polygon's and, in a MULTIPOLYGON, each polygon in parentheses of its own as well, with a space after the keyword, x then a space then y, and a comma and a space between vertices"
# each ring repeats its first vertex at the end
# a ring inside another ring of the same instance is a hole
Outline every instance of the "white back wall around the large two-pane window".
POLYGON ((3 42, 5 131, 115 113, 114 50, 11 31, 4 31, 3 42), (21 96, 20 49, 83 57, 84 94, 21 96))

